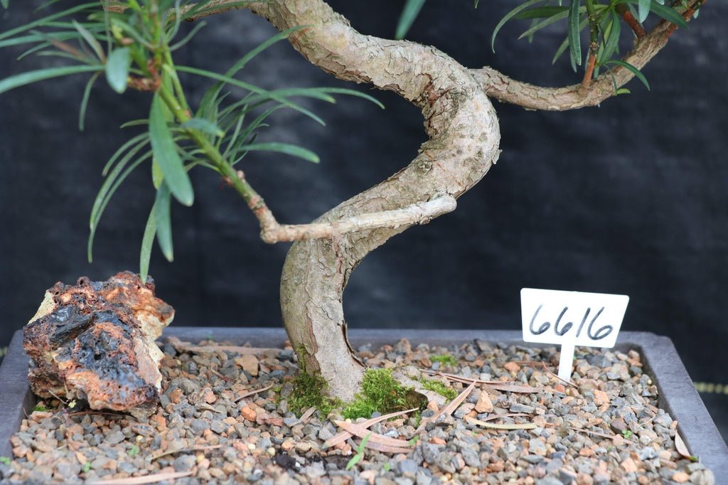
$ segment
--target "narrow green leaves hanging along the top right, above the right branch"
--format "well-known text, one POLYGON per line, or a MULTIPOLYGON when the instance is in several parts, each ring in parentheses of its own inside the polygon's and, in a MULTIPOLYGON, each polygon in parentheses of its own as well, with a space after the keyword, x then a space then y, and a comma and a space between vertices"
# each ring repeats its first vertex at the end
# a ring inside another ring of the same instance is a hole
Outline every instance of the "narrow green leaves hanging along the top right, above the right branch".
MULTIPOLYGON (((403 39, 412 23, 419 15, 424 0, 408 0, 403 8, 399 23, 397 24, 397 39, 403 39)), ((676 2, 678 8, 687 9, 687 0, 676 2)), ((478 7, 478 0, 474 6, 478 7)), ((566 37, 556 50, 552 63, 561 58, 569 50, 571 67, 577 71, 577 66, 584 66, 585 76, 588 79, 596 78, 601 67, 619 65, 628 68, 640 79, 649 90, 644 75, 637 68, 614 56, 620 52, 620 35, 622 33, 620 17, 629 12, 638 22, 644 23, 650 14, 680 28, 687 28, 687 21, 678 13, 675 7, 665 5, 665 0, 523 0, 510 10, 496 25, 491 36, 491 49, 495 52, 495 40, 501 28, 510 20, 529 20, 530 25, 521 33, 518 39, 533 40, 534 34, 543 29, 559 23, 566 22, 566 37), (566 4, 568 2, 568 4, 566 4), (582 31, 587 29, 589 42, 586 50, 582 50, 582 31), (593 66, 582 62, 585 55, 594 58, 593 66), (593 69, 593 71, 590 71, 593 69)), ((697 17, 699 9, 694 16, 697 17)), ((617 94, 628 90, 617 90, 617 94)))

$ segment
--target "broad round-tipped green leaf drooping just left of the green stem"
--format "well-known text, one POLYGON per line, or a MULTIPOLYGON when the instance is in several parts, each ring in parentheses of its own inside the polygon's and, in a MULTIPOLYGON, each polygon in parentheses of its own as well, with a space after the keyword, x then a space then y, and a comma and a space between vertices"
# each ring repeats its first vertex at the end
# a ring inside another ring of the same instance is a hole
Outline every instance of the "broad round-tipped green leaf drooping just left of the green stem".
MULTIPOLYGON (((175 141, 162 111, 162 99, 158 94, 154 95, 149 111, 149 138, 154 158, 159 162, 159 167, 165 175, 165 185, 169 186, 170 192, 182 205, 192 205, 194 202, 192 183, 177 154, 175 141)), ((159 218, 157 223, 161 225, 159 218)))

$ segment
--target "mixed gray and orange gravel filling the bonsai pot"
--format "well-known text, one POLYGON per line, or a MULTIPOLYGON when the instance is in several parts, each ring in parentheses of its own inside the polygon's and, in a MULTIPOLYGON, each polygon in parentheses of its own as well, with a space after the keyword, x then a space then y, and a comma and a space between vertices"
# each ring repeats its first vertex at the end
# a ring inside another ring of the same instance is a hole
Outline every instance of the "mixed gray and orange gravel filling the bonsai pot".
MULTIPOLYGON (((165 473, 177 477, 175 484, 715 483, 700 462, 678 453, 677 422, 657 408, 657 387, 634 351, 578 347, 573 385, 566 385, 550 373, 558 363, 553 347, 473 342, 412 348, 405 340, 381 349, 360 347, 371 367, 414 366, 531 385, 537 392, 476 386, 453 414, 419 433, 415 417, 376 423, 371 432, 400 439, 403 446, 414 443, 411 452, 367 448, 346 470, 358 438, 323 448, 341 431, 334 423, 343 419, 340 410, 301 419, 289 409, 290 381, 298 370, 293 350, 241 351, 223 344, 167 341, 164 394, 149 419, 83 411, 81 403, 74 409, 43 403, 47 410, 33 411, 12 438, 15 457, 0 462, 2 482, 93 483, 165 473), (447 355, 455 363, 435 357, 447 355), (486 429, 470 418, 535 427, 486 429)), ((457 393, 467 387, 449 385, 457 393)), ((422 421, 435 407, 422 411, 422 421)))

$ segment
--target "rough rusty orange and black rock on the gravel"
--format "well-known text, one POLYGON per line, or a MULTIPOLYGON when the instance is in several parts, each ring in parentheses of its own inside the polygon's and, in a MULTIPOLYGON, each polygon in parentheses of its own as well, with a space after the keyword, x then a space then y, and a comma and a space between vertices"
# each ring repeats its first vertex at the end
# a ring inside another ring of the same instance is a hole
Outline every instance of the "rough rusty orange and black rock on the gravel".
POLYGON ((162 382, 154 341, 173 317, 174 309, 154 296, 151 278, 142 284, 132 272, 56 283, 23 330, 33 393, 149 414, 162 382))

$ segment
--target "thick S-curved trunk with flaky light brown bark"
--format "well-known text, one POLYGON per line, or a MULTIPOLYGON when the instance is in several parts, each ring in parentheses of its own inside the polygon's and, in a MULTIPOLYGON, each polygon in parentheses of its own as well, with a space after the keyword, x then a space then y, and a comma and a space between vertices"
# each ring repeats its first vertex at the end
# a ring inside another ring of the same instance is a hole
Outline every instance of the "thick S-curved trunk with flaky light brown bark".
MULTIPOLYGON (((280 30, 311 25, 290 37, 306 59, 341 79, 393 90, 422 109, 430 139, 417 157, 318 221, 459 197, 496 161, 500 135, 493 106, 470 71, 443 52, 364 36, 320 0, 272 0, 249 8, 280 30)), ((351 400, 364 370, 346 336, 341 300, 349 276, 370 251, 419 222, 304 240, 288 253, 281 280, 285 328, 302 368, 323 376, 335 397, 351 400)))

